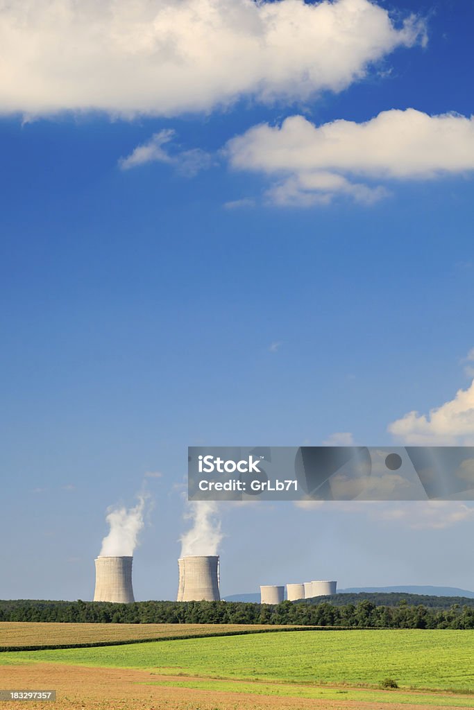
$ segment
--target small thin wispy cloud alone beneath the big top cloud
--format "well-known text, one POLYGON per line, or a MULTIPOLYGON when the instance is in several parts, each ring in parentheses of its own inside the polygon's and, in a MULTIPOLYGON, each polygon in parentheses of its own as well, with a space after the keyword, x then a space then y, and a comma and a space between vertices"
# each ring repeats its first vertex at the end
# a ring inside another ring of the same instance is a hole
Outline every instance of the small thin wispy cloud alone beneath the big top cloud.
POLYGON ((130 170, 146 163, 168 163, 173 165, 178 173, 188 178, 193 178, 200 170, 210 168, 212 157, 209 153, 201 151, 200 148, 182 151, 173 146, 172 141, 175 136, 176 132, 173 129, 163 129, 153 133, 149 141, 137 146, 126 158, 120 158, 120 168, 130 170), (163 146, 168 146, 168 151, 163 146))

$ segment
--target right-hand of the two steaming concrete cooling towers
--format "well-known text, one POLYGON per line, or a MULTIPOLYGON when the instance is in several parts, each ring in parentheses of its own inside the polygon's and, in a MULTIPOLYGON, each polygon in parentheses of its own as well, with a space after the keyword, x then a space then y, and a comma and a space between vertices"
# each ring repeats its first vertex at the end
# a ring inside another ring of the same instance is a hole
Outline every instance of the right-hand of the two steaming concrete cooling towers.
POLYGON ((217 555, 181 557, 178 569, 177 601, 220 601, 217 555))

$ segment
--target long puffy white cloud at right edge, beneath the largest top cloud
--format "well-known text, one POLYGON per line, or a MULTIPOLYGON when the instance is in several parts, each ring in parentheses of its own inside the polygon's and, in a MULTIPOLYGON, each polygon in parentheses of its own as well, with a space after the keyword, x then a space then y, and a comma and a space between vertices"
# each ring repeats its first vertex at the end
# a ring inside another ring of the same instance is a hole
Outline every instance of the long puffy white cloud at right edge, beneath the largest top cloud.
POLYGON ((338 120, 315 126, 290 116, 281 126, 253 126, 227 143, 236 170, 276 180, 266 199, 308 207, 335 195, 372 204, 384 185, 362 180, 430 180, 474 170, 474 117, 429 116, 415 109, 383 111, 365 123, 338 120))

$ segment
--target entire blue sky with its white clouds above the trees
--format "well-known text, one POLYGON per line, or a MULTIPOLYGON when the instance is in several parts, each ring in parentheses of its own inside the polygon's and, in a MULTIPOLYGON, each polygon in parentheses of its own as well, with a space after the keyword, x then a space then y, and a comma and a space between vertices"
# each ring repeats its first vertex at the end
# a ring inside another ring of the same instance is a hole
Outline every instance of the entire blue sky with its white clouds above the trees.
MULTIPOLYGON (((80 21, 66 0, 28 5, 0 12, 1 598, 90 599, 107 507, 159 472, 134 584, 172 599, 188 445, 474 442, 473 6, 323 4, 341 40, 300 17, 317 4, 264 4, 283 51, 252 3, 218 3, 210 25, 207 3, 170 3, 171 31, 153 0, 174 44, 149 53, 152 18, 137 35, 122 2, 95 17, 98 43, 92 5, 80 21), (187 8, 212 29, 194 50, 187 8), (367 121, 359 145, 348 122, 367 121)), ((473 589, 473 508, 401 505, 226 508, 222 591, 473 589)))

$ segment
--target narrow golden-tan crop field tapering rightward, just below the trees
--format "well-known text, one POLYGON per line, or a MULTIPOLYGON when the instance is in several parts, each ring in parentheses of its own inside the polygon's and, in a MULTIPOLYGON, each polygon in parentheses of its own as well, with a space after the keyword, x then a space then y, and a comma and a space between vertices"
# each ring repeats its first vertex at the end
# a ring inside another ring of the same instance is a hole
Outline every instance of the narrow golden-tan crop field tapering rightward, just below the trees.
MULTIPOLYGON (((6 646, 104 643, 180 636, 217 636, 226 633, 274 631, 277 626, 252 624, 173 623, 33 623, 0 622, 0 648, 6 646)), ((288 628, 288 627, 284 627, 288 628)))

